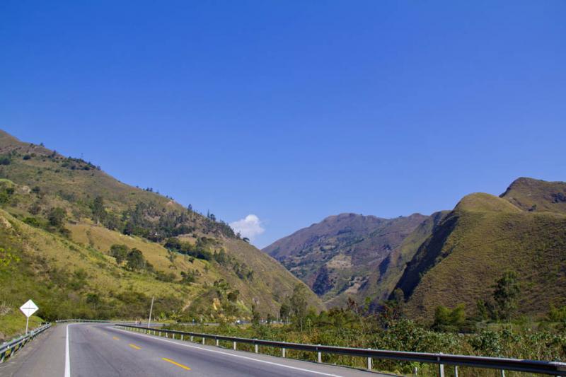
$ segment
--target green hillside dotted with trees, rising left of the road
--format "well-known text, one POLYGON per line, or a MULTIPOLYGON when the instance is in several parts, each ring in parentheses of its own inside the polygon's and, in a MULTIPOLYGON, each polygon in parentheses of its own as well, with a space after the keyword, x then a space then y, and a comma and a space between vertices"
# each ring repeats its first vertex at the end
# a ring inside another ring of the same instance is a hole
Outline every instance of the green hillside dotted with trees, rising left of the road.
POLYGON ((213 214, 5 132, 0 178, 0 323, 28 298, 46 319, 143 318, 151 296, 163 318, 275 315, 302 284, 213 214))

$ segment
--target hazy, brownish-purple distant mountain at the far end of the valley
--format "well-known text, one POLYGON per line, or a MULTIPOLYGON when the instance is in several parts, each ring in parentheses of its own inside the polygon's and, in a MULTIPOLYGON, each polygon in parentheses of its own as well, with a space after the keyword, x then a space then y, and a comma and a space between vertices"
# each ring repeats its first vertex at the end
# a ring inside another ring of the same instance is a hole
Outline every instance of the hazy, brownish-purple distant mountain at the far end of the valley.
POLYGON ((349 296, 375 294, 375 287, 367 284, 370 275, 426 219, 421 214, 396 219, 359 214, 329 216, 263 251, 311 286, 328 306, 340 306, 349 296))

